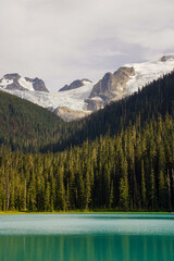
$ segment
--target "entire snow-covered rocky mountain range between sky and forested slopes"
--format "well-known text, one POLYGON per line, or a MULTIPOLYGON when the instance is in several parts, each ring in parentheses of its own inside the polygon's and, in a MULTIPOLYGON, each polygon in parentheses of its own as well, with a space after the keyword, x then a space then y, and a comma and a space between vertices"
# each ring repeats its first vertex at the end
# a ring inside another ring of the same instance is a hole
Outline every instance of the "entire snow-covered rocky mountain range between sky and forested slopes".
POLYGON ((114 73, 107 73, 98 83, 74 80, 58 92, 48 92, 41 79, 8 74, 0 80, 0 90, 37 103, 66 120, 69 115, 74 120, 137 91, 173 70, 174 55, 164 55, 154 62, 126 64, 114 73))

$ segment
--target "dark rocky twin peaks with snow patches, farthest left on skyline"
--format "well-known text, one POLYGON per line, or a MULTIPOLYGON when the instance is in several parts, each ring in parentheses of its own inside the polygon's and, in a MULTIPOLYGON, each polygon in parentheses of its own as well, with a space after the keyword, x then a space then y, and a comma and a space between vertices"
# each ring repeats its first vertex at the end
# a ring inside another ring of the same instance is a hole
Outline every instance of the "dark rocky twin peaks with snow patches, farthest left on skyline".
POLYGON ((49 92, 42 79, 21 77, 18 74, 5 74, 0 79, 0 87, 7 90, 28 90, 49 92))

